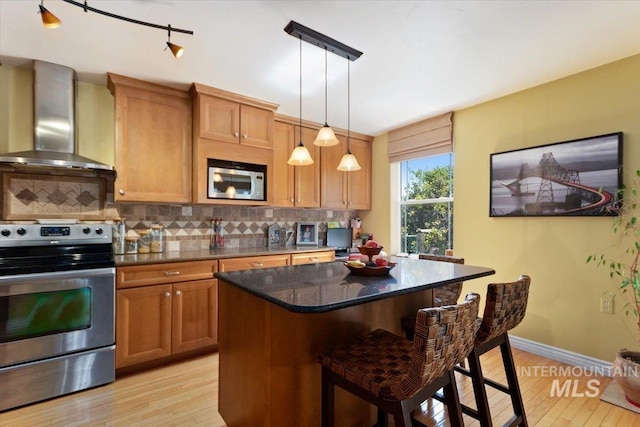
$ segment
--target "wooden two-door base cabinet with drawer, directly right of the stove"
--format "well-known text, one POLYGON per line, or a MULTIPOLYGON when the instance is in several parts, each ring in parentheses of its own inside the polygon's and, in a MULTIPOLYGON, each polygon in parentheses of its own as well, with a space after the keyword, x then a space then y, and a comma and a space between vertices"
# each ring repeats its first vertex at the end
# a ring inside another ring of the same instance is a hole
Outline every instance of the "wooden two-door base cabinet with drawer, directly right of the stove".
POLYGON ((218 342, 217 261, 116 269, 116 368, 218 342))

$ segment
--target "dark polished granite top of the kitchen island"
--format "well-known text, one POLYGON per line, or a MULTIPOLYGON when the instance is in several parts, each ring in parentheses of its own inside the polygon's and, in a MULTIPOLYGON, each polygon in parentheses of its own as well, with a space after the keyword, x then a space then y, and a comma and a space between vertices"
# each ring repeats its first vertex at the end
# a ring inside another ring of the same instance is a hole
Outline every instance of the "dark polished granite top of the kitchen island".
POLYGON ((392 257, 388 276, 360 276, 343 262, 216 273, 215 277, 297 313, 322 313, 495 274, 491 268, 392 257))

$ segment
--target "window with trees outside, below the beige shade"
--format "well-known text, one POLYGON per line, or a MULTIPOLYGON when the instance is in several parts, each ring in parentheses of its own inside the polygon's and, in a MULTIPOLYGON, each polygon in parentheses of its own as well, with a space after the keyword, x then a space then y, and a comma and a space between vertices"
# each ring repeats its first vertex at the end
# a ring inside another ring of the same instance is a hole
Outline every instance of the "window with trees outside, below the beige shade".
POLYGON ((453 153, 399 163, 398 226, 403 253, 453 248, 453 153))

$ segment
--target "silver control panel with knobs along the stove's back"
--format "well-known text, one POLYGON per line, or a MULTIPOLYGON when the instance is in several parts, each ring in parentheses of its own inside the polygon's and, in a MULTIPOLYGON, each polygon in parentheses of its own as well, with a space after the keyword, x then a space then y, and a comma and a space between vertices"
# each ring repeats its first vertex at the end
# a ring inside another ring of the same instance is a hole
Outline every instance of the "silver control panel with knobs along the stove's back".
POLYGON ((111 243, 109 224, 0 224, 0 247, 111 243))

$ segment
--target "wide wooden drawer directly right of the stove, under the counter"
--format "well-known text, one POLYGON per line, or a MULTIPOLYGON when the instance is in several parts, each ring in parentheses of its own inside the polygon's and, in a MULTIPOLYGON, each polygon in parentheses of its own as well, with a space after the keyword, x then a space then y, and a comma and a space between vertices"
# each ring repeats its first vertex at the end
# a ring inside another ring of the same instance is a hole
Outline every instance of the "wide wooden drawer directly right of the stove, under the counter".
POLYGON ((116 268, 116 288, 213 279, 218 261, 173 262, 116 268))

